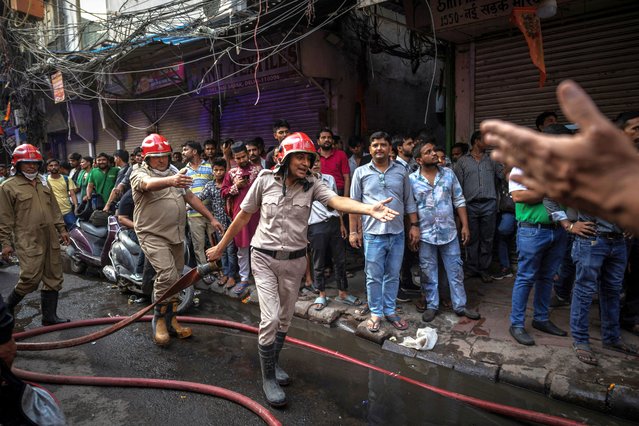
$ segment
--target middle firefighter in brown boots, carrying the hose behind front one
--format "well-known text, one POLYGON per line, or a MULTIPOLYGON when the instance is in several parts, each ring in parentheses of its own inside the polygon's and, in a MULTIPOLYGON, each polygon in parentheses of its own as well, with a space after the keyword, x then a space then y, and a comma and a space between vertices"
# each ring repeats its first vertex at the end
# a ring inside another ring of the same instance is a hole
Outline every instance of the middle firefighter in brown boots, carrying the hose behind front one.
MULTIPOLYGON (((131 173, 135 233, 157 273, 153 300, 179 279, 184 268, 186 203, 207 218, 217 231, 224 231, 220 222, 188 189, 193 179, 171 166, 171 154, 171 145, 163 136, 150 134, 142 142, 144 162, 131 173)), ((171 335, 180 339, 191 336, 191 329, 177 322, 177 306, 177 295, 156 305, 152 322, 156 345, 167 345, 171 335)))

